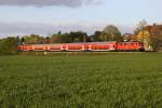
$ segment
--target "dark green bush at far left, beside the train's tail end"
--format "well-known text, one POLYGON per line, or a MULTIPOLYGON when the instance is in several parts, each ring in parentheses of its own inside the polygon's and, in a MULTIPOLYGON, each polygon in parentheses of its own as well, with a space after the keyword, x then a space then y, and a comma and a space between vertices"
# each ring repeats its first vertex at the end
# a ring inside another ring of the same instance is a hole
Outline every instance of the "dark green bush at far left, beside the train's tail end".
POLYGON ((0 54, 16 54, 17 38, 9 37, 0 41, 0 54))

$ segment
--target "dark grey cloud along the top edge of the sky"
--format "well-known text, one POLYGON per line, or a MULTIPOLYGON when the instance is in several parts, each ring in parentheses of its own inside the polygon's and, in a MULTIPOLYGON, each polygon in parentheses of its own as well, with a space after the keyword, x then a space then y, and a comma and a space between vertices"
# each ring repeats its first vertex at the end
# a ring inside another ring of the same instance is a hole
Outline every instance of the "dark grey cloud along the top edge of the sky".
POLYGON ((50 6, 50 5, 64 5, 77 8, 84 4, 96 4, 102 0, 0 0, 0 5, 36 5, 36 6, 50 6))

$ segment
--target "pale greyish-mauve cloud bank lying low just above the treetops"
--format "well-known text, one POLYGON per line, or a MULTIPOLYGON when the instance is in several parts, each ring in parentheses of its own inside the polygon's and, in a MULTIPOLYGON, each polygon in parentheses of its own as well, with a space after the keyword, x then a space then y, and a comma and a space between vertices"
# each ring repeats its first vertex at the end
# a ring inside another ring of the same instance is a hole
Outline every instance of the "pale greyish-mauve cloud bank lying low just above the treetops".
MULTIPOLYGON (((94 33, 96 30, 103 30, 105 24, 91 24, 91 23, 57 23, 57 24, 38 24, 38 23, 0 23, 0 38, 9 35, 42 35, 49 36, 70 31, 86 31, 89 35, 94 33)), ((129 26, 118 26, 122 33, 133 32, 134 28, 129 26)))

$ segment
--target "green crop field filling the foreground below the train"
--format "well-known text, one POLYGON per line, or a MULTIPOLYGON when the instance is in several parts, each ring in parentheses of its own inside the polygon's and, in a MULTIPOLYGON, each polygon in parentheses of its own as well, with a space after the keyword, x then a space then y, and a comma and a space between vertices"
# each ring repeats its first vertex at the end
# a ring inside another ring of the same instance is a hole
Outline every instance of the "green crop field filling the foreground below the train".
POLYGON ((0 56, 0 108, 161 108, 162 53, 0 56))

